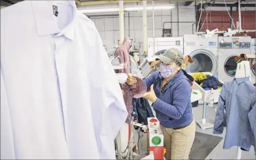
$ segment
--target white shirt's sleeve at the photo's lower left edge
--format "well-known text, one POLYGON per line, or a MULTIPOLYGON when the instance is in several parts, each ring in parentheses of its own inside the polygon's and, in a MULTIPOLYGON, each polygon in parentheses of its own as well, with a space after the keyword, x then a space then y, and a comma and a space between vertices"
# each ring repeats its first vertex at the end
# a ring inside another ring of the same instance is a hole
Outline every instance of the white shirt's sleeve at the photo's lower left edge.
POLYGON ((11 114, 1 70, 1 159, 16 159, 11 114))

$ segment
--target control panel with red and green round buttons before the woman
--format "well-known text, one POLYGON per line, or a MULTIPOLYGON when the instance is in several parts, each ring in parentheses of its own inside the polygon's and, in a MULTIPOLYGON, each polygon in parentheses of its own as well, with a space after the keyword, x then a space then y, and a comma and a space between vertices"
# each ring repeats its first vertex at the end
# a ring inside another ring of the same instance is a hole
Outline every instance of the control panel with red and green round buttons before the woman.
POLYGON ((149 147, 163 146, 163 132, 157 118, 148 118, 149 147))

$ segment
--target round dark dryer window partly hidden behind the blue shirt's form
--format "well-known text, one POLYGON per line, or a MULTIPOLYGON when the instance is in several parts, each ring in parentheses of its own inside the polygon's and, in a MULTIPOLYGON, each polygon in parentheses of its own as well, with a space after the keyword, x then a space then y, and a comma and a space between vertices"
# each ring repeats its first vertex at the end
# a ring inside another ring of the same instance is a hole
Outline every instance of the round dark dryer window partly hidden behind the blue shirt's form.
POLYGON ((236 75, 236 68, 237 68, 237 63, 235 61, 236 57, 237 55, 231 55, 229 58, 227 58, 227 60, 224 63, 224 70, 231 77, 234 77, 236 75))

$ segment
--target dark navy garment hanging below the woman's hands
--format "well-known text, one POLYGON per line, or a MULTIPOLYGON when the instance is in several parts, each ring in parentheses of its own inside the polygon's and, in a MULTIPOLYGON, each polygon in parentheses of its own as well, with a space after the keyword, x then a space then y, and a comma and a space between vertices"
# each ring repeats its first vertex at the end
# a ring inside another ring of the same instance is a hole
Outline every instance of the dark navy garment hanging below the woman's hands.
POLYGON ((138 98, 138 99, 133 99, 134 102, 134 110, 136 111, 138 115, 138 123, 143 123, 145 125, 148 125, 147 118, 149 117, 155 117, 152 109, 148 103, 148 100, 145 98, 138 98))

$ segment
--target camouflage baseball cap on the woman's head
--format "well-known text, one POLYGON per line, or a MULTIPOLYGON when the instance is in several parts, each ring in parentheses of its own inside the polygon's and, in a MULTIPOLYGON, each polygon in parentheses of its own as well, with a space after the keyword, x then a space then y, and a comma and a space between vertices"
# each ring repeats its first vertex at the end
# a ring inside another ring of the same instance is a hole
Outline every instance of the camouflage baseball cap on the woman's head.
POLYGON ((172 62, 179 63, 179 65, 183 64, 184 57, 182 52, 178 49, 171 48, 166 50, 163 54, 157 56, 156 60, 161 60, 166 64, 171 64, 172 62))

